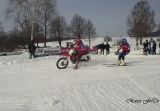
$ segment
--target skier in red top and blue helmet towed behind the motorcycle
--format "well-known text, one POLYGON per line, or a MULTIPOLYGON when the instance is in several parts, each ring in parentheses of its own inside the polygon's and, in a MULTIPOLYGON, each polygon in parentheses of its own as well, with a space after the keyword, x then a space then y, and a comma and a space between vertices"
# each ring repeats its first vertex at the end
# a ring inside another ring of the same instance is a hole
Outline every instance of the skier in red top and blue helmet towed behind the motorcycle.
POLYGON ((117 65, 120 66, 121 63, 122 65, 126 65, 125 63, 125 56, 130 52, 130 45, 127 42, 127 39, 122 39, 122 42, 118 48, 118 51, 116 52, 118 55, 118 61, 117 65))

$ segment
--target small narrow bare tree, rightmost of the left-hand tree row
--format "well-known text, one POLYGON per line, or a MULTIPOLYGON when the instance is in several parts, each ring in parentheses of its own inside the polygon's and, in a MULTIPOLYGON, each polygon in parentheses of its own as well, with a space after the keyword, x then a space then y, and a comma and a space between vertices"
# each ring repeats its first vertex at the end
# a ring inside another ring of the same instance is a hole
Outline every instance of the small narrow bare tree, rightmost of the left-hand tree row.
POLYGON ((91 45, 91 37, 96 36, 96 28, 94 27, 94 24, 92 21, 89 19, 86 24, 85 24, 85 34, 88 36, 89 39, 89 47, 91 45))

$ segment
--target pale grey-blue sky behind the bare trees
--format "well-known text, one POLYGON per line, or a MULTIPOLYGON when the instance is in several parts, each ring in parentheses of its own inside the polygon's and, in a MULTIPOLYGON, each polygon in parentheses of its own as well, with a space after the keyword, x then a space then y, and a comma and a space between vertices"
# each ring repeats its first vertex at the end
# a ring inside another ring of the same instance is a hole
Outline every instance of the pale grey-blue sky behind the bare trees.
MULTIPOLYGON (((0 0, 0 21, 4 20, 5 0, 0 0)), ((75 13, 95 24, 98 35, 127 36, 127 16, 138 0, 57 0, 57 11, 69 23, 75 13)), ((160 0, 150 0, 156 13, 156 23, 160 23, 160 0)), ((10 22, 4 23, 5 28, 10 22)))

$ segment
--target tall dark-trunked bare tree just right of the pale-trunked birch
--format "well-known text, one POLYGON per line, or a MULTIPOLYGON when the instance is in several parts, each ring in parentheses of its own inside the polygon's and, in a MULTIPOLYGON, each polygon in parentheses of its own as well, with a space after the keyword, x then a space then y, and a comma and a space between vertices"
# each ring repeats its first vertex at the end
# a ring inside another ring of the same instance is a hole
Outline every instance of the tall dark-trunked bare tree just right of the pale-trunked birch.
POLYGON ((56 15, 56 0, 40 0, 40 24, 44 31, 44 46, 46 47, 47 35, 50 30, 53 17, 56 15))

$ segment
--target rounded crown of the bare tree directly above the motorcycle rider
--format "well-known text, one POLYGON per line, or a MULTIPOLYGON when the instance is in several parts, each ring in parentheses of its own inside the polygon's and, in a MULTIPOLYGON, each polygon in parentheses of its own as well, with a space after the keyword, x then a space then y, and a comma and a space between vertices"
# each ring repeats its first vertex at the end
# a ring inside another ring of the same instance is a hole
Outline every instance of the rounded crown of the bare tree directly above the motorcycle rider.
POLYGON ((79 38, 84 34, 85 18, 75 14, 71 20, 72 33, 79 38))

